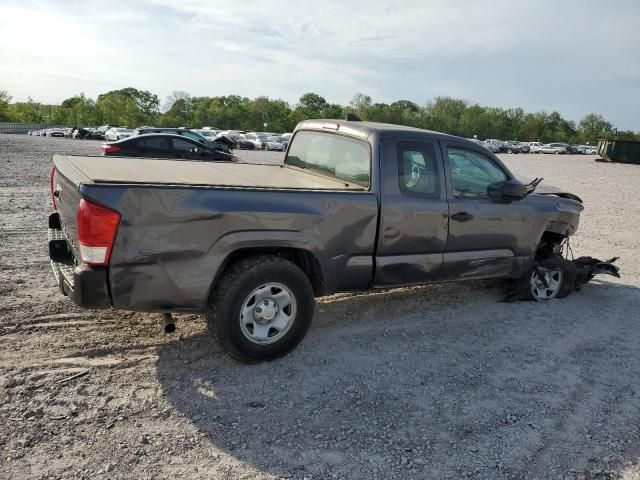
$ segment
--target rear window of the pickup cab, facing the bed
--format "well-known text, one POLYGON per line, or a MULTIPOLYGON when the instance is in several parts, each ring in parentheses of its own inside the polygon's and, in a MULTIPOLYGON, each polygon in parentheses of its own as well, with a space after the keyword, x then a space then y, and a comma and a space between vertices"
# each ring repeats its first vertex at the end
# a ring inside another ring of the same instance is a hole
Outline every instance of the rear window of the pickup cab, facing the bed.
POLYGON ((369 144, 324 132, 296 133, 285 164, 369 187, 369 144))

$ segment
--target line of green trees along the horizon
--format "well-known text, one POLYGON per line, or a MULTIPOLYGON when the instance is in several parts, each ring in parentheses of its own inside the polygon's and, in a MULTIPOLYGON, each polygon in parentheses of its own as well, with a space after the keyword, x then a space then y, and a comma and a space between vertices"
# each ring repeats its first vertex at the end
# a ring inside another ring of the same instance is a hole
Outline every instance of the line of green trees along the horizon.
POLYGON ((409 100, 374 103, 370 96, 358 93, 349 105, 339 105, 327 102, 316 93, 305 93, 291 105, 266 96, 253 99, 238 95, 194 97, 177 91, 161 105, 157 95, 130 87, 100 94, 95 100, 81 93, 60 105, 44 105, 31 98, 26 102, 12 102, 11 96, 0 90, 2 122, 71 126, 212 126, 225 130, 290 132, 301 120, 344 118, 347 113, 355 113, 363 120, 479 139, 591 144, 605 137, 640 140, 640 132, 618 131, 596 113, 590 113, 576 123, 556 111, 531 113, 522 108, 485 107, 450 97, 436 97, 420 106, 409 100))

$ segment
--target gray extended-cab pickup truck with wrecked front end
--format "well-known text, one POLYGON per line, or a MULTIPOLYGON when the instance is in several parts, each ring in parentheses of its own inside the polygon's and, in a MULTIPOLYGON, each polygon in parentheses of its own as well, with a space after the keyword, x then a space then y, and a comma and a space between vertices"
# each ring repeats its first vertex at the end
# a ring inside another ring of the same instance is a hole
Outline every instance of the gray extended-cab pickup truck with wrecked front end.
POLYGON ((55 156, 49 253, 78 305, 204 312, 258 362, 302 340, 322 295, 485 278, 568 294, 582 202, 537 183, 472 141, 361 121, 300 123, 282 165, 55 156))

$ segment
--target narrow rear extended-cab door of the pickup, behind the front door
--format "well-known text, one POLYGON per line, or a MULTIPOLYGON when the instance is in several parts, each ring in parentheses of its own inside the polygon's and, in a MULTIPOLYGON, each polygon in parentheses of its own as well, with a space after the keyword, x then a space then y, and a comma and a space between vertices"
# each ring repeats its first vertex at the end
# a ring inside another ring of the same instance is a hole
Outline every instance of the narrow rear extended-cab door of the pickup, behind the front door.
POLYGON ((376 286, 438 278, 447 240, 443 162, 437 140, 382 138, 376 286))

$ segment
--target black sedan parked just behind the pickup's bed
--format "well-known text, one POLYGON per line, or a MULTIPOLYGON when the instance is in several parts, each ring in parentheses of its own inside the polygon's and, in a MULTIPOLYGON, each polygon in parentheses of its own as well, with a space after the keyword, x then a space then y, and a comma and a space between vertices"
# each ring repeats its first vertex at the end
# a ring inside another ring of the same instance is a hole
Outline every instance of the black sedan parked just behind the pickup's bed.
POLYGON ((102 145, 103 155, 116 157, 183 158, 201 161, 237 161, 237 157, 182 135, 134 135, 102 145))

